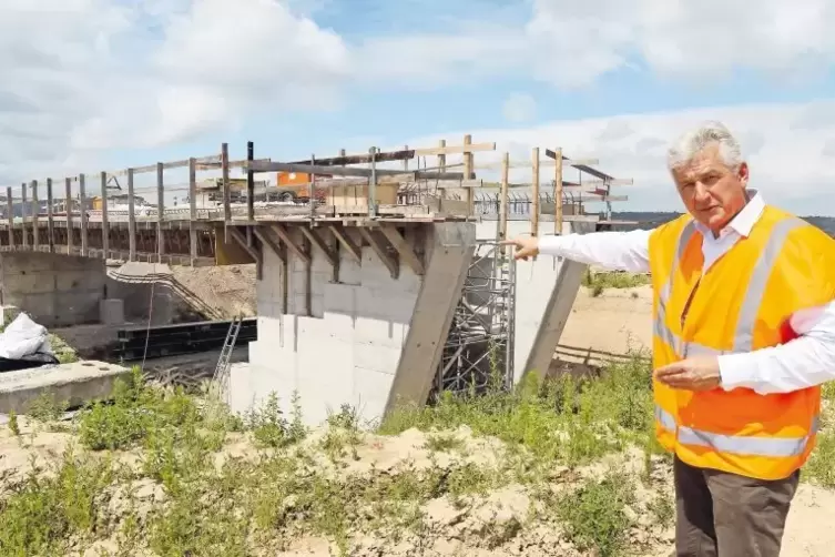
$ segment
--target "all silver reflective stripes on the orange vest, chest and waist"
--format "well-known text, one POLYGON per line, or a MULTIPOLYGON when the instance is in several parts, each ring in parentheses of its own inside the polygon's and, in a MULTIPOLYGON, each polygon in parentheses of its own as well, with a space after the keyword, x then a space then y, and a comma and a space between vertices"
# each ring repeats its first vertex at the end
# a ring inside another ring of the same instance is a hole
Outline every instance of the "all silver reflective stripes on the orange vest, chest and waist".
MULTIPOLYGON (((736 331, 734 333, 733 350, 725 351, 704 346, 692 341, 684 341, 673 333, 666 325, 666 304, 672 295, 673 276, 679 267, 679 262, 684 254, 684 250, 695 232, 694 222, 689 222, 679 236, 679 244, 673 259, 670 276, 659 292, 658 313, 653 324, 654 334, 672 347, 675 354, 681 358, 701 355, 720 356, 723 354, 744 353, 754 350, 754 325, 756 323, 756 316, 760 312, 763 296, 765 295, 768 277, 774 270, 774 265, 776 264, 780 252, 783 249, 783 244, 788 234, 793 230, 806 225, 808 225, 808 223, 800 219, 790 217, 780 221, 772 229, 768 241, 754 264, 745 298, 740 307, 736 331)), ((723 435, 688 426, 679 426, 675 423, 675 417, 659 405, 655 405, 655 421, 661 428, 671 433, 676 438, 678 443, 681 443, 682 445, 710 447, 714 450, 741 455, 792 457, 800 456, 804 453, 809 439, 817 433, 819 418, 817 415, 813 416, 809 432, 803 437, 751 437, 723 435)))

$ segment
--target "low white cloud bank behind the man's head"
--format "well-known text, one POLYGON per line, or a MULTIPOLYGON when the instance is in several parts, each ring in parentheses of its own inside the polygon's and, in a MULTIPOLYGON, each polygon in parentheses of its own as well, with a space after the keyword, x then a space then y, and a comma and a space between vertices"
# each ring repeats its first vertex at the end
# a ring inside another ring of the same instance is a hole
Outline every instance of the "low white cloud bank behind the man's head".
MULTIPOLYGON (((597 168, 601 171, 614 178, 633 179, 634 185, 615 188, 618 194, 630 195, 632 209, 673 210, 681 202, 666 171, 668 145, 705 120, 720 120, 742 143, 743 154, 751 165, 752 186, 762 190, 770 201, 785 204, 790 210, 796 207, 794 210, 800 212, 819 213, 819 200, 823 195, 831 196, 835 182, 835 166, 831 159, 835 122, 819 128, 791 125, 798 118, 808 115, 812 107, 827 112, 835 109, 835 101, 625 114, 553 121, 528 129, 450 130, 446 134, 413 139, 409 145, 435 145, 439 139, 447 139, 448 144, 460 144, 460 140, 452 138, 460 138, 464 133, 471 133, 477 143, 495 141, 495 152, 476 154, 478 165, 500 161, 505 151, 510 152, 511 161, 527 162, 531 148, 552 148, 559 142, 566 156, 594 158, 600 161, 597 168)), ((459 161, 460 156, 448 156, 450 163, 459 161)), ((567 169, 564 175, 576 178, 576 173, 567 169)), ((479 178, 495 180, 498 174, 480 171, 479 178)), ((529 179, 530 170, 511 171, 511 181, 529 179)), ((544 173, 542 179, 546 179, 544 173)))

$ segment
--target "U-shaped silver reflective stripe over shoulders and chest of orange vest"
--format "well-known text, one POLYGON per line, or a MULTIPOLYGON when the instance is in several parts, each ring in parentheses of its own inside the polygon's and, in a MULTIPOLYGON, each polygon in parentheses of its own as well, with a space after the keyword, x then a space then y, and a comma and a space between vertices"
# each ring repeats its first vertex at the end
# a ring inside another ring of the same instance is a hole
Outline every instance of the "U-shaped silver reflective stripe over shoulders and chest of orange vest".
POLYGON ((754 350, 753 341, 756 314, 760 311, 760 305, 765 295, 765 286, 768 283, 768 277, 771 276, 772 271, 774 270, 774 264, 780 256, 780 252, 783 249, 783 244, 788 234, 800 226, 808 225, 808 223, 800 219, 791 217, 780 221, 772 229, 768 242, 765 244, 763 253, 760 254, 760 257, 754 265, 754 271, 751 275, 751 281, 749 282, 749 287, 745 293, 745 300, 743 300, 742 307, 740 308, 733 350, 726 351, 704 346, 692 341, 685 342, 666 326, 666 304, 672 295, 673 276, 679 266, 679 261, 681 261, 681 256, 684 254, 684 250, 695 232, 694 221, 689 222, 679 236, 679 246, 675 251, 670 276, 659 293, 659 307, 653 323, 653 333, 670 345, 679 357, 682 358, 689 356, 721 356, 723 354, 736 354, 754 350))

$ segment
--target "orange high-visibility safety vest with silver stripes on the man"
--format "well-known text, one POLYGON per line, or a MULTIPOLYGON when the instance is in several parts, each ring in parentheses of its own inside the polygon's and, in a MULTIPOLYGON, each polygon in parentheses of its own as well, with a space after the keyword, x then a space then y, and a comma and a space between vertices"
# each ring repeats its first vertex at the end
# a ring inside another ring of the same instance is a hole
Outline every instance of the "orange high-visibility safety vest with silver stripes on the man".
MULTIPOLYGON (((702 274, 690 215, 650 236, 653 365, 751 352, 786 342, 782 324, 835 298, 835 240, 766 205, 751 234, 702 274)), ((659 443, 692 466, 761 479, 790 476, 815 444, 821 388, 761 395, 654 383, 659 443)))

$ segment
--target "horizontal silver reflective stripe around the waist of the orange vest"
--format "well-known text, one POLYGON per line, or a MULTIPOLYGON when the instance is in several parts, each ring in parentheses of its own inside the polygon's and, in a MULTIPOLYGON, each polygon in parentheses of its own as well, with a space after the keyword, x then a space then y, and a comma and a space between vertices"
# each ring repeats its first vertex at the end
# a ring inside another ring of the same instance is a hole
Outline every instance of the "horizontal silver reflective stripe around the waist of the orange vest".
POLYGON ((655 406, 655 419, 662 428, 673 434, 682 445, 696 445, 724 453, 770 457, 801 456, 806 450, 809 439, 817 433, 819 425, 818 417, 814 416, 808 435, 803 437, 744 437, 709 433, 686 426, 676 427, 672 414, 658 405, 655 406))

